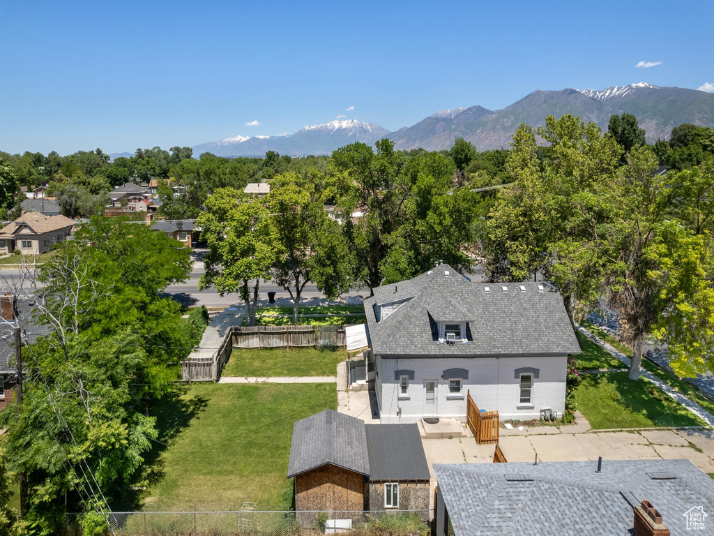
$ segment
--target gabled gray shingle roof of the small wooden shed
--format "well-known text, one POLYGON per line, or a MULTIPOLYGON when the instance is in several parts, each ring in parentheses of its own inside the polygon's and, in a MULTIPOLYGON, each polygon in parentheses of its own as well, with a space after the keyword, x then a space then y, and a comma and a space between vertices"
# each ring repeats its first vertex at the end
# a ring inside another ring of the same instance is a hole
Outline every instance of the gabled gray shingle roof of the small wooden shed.
POLYGON ((363 420, 325 410, 295 423, 288 478, 326 464, 369 475, 363 420))

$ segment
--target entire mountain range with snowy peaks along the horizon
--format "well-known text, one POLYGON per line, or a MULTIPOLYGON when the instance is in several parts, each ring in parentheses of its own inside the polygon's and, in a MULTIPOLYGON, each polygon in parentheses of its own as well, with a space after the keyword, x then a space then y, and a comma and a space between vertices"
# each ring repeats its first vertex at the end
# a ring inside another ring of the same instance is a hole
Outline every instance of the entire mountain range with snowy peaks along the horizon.
POLYGON ((647 141, 654 142, 667 139, 673 126, 679 124, 714 127, 714 94, 645 82, 603 90, 539 89, 500 110, 483 106, 439 110, 394 132, 373 123, 343 119, 306 125, 294 134, 226 138, 197 145, 193 147, 193 154, 198 157, 203 152, 211 152, 223 157, 254 157, 271 150, 291 156, 330 154, 346 144, 373 145, 384 137, 392 139, 397 149, 421 147, 429 151, 448 149, 456 138, 463 137, 483 151, 509 147, 519 124, 543 126, 549 115, 577 115, 585 121, 595 121, 606 130, 610 116, 623 113, 637 116, 647 141))

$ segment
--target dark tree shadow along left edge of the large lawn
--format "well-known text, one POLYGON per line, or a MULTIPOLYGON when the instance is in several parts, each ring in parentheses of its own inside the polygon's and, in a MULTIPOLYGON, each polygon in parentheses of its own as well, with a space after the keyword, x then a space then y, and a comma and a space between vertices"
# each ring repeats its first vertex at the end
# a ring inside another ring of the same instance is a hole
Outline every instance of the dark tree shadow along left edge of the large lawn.
POLYGON ((171 441, 181 435, 191 421, 206 409, 208 399, 201 396, 184 398, 187 385, 179 385, 149 405, 149 415, 156 417, 159 436, 151 441, 151 450, 144 452, 144 463, 136 471, 131 482, 122 490, 112 508, 130 512, 139 510, 140 502, 153 485, 164 478, 164 462, 159 458, 171 441))

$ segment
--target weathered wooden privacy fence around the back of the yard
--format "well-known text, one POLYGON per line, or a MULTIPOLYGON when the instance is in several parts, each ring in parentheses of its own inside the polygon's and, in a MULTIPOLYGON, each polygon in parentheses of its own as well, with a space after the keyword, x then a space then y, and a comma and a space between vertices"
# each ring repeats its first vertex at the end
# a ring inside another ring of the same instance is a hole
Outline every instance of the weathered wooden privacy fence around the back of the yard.
POLYGON ((231 326, 211 357, 181 362, 181 378, 185 382, 218 382, 233 348, 343 347, 347 345, 345 328, 346 325, 231 326))

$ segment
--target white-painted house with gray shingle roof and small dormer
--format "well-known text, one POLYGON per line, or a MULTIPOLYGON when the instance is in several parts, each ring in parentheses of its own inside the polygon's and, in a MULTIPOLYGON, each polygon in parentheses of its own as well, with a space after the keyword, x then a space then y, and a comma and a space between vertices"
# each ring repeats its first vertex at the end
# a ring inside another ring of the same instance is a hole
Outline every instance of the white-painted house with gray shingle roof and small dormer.
POLYGON ((568 354, 580 346, 548 284, 471 283, 448 264, 364 300, 368 370, 381 422, 466 420, 466 395, 501 418, 565 408, 568 354))

